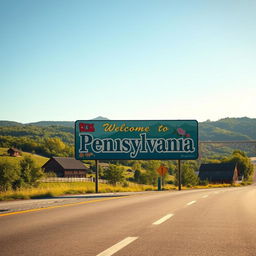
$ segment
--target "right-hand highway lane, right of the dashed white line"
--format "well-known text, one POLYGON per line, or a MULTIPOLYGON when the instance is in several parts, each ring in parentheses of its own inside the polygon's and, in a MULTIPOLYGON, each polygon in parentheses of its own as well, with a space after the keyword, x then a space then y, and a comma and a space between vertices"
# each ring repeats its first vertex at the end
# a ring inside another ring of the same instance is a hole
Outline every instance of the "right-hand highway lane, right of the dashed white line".
POLYGON ((255 186, 210 194, 174 214, 116 255, 256 255, 255 186))

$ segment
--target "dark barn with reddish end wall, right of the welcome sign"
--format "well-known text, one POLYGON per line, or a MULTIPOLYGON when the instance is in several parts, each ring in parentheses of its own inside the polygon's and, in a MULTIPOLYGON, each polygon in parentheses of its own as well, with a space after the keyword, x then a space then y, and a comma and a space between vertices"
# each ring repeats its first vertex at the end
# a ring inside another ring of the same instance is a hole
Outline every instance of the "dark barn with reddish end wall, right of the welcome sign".
POLYGON ((199 179, 209 183, 237 183, 238 170, 235 163, 201 164, 199 179))

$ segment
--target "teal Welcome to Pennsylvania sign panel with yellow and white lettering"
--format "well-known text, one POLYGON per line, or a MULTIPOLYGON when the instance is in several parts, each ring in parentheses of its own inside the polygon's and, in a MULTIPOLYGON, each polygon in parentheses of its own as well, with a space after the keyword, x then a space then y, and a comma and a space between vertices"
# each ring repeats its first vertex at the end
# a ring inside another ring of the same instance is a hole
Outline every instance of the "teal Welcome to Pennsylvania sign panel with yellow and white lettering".
POLYGON ((78 160, 192 160, 198 158, 196 120, 79 120, 78 160))

